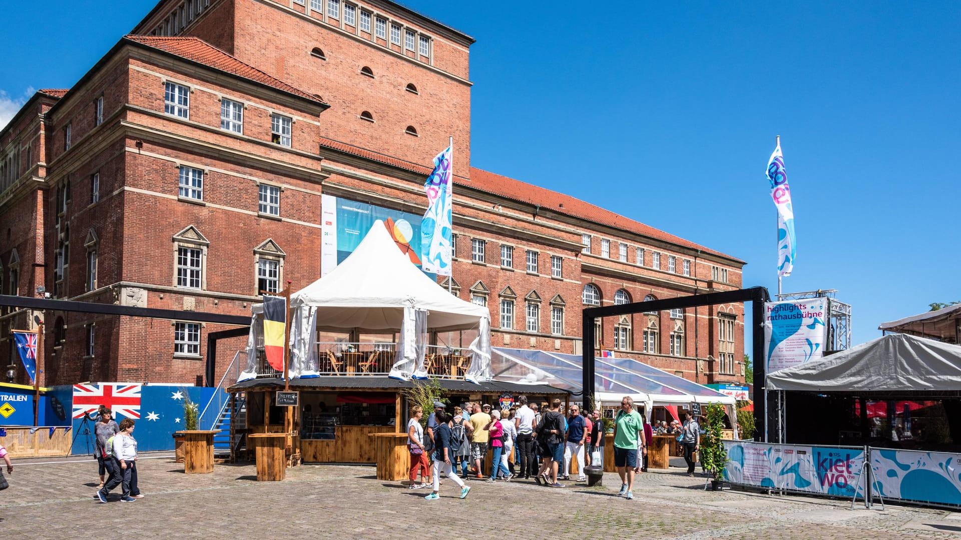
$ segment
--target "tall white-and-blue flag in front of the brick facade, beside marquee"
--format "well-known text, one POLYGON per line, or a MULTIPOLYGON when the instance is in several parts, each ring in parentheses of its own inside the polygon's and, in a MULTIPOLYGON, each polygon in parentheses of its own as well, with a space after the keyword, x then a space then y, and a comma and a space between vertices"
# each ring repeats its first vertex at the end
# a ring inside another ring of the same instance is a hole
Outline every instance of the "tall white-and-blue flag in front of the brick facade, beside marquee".
POLYGON ((433 159, 433 171, 424 183, 427 212, 421 220, 421 267, 438 276, 451 275, 451 240, 453 179, 451 158, 454 147, 448 146, 433 159))

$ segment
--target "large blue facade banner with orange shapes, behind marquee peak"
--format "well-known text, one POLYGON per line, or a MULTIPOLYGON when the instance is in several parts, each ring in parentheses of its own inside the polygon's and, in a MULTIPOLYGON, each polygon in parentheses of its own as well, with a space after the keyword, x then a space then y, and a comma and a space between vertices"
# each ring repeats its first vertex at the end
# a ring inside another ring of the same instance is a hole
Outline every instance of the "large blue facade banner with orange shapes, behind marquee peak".
POLYGON ((322 195, 320 275, 323 277, 331 273, 337 264, 354 253, 379 219, 410 262, 421 266, 421 216, 322 195))

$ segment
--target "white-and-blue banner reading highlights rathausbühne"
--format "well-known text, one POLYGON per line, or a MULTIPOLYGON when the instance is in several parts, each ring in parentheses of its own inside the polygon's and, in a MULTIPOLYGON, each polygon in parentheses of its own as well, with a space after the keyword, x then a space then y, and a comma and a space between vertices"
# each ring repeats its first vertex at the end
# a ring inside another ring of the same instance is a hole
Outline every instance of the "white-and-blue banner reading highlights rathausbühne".
POLYGON ((764 305, 765 373, 824 356, 827 299, 808 298, 764 305))

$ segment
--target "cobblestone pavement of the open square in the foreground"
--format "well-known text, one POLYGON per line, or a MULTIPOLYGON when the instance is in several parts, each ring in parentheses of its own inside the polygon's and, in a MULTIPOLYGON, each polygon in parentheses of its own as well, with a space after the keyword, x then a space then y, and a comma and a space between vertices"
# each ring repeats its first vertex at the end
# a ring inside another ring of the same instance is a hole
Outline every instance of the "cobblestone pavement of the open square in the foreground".
POLYGON ((0 492, 0 537, 961 538, 961 514, 890 504, 851 511, 850 501, 705 492, 703 479, 679 469, 641 475, 634 501, 617 497, 620 482, 607 474, 607 485, 593 488, 469 480, 466 501, 448 479, 441 500, 431 502, 423 500, 427 490, 376 479, 373 467, 306 465, 282 482, 258 482, 251 464, 187 476, 182 464, 158 457, 138 462, 144 499, 102 504, 92 499, 96 464, 65 461, 14 460, 11 487, 0 492))

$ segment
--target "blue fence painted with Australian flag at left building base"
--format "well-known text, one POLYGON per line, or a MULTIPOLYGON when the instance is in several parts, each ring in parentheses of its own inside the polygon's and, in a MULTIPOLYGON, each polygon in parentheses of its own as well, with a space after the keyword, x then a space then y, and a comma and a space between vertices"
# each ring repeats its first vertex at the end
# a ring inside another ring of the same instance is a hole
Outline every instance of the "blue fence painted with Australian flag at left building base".
MULTIPOLYGON (((34 399, 31 386, 0 383, 0 429, 33 427, 34 399)), ((173 432, 185 429, 187 401, 198 405, 198 414, 207 409, 201 423, 212 425, 227 394, 220 388, 185 384, 93 382, 42 388, 39 400, 39 429, 70 430, 71 454, 91 454, 94 426, 90 420, 85 422, 83 413, 96 410, 97 405, 109 406, 117 423, 123 418, 136 421, 138 451, 167 451, 174 448, 173 432)))

